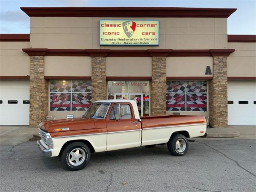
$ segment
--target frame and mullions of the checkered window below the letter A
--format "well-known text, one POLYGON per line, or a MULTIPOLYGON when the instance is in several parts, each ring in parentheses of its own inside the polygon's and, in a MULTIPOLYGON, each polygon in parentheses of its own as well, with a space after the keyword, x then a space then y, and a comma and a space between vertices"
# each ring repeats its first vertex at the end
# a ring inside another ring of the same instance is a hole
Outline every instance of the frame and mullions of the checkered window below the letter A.
POLYGON ((185 110, 182 111, 182 110, 178 110, 178 111, 169 111, 167 110, 167 107, 166 107, 166 111, 167 112, 208 112, 208 81, 207 80, 166 80, 166 85, 167 85, 167 82, 170 81, 170 82, 185 82, 185 92, 167 92, 166 91, 166 95, 167 94, 184 94, 185 95, 185 110), (206 82, 206 92, 187 92, 187 82, 190 82, 190 81, 204 81, 206 82), (206 111, 193 111, 193 110, 190 110, 188 111, 187 110, 187 94, 206 94, 206 111))

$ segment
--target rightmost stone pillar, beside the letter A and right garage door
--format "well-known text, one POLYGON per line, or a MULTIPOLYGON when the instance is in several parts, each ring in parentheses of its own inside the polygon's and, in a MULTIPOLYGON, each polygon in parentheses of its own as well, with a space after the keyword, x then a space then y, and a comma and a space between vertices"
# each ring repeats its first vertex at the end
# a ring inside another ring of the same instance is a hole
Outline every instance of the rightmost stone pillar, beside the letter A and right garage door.
POLYGON ((213 80, 209 81, 209 116, 214 128, 228 126, 227 57, 213 57, 213 80))

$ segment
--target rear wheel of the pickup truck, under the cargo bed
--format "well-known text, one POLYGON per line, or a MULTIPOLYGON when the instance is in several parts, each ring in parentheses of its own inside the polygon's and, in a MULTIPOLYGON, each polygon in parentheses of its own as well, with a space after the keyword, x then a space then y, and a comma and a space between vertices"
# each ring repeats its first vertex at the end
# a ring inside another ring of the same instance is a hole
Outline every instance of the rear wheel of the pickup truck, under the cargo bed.
POLYGON ((188 151, 188 139, 182 134, 176 134, 170 139, 167 146, 172 155, 182 156, 188 151))

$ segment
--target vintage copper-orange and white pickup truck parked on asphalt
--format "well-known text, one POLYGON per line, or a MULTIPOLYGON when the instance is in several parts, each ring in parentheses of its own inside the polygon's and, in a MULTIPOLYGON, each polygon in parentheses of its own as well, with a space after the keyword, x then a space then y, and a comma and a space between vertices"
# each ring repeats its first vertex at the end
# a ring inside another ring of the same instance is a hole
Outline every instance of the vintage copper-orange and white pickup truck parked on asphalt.
POLYGON ((39 124, 37 144, 45 156, 60 156, 64 168, 81 170, 92 152, 167 144, 175 156, 188 150, 188 138, 206 134, 204 116, 140 117, 134 100, 93 102, 82 118, 39 124))

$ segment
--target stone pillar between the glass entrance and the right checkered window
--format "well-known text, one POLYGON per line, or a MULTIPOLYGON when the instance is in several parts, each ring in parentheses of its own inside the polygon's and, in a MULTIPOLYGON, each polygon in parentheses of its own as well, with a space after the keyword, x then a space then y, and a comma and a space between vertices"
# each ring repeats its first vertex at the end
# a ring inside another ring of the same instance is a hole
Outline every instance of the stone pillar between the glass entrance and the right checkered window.
POLYGON ((152 57, 151 115, 166 114, 166 57, 152 57))

